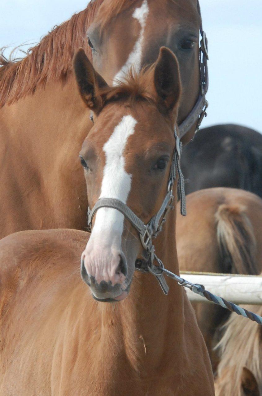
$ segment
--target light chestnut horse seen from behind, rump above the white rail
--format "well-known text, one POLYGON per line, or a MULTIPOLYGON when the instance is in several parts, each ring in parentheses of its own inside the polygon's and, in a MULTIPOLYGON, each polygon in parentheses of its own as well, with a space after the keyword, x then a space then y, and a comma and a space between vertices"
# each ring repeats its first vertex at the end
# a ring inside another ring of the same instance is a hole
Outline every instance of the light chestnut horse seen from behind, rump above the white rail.
MULTIPOLYGON (((187 196, 187 216, 177 217, 180 270, 260 274, 262 270, 262 199, 234 188, 207 188, 187 196)), ((216 328, 227 311, 194 304, 213 367, 216 328)))

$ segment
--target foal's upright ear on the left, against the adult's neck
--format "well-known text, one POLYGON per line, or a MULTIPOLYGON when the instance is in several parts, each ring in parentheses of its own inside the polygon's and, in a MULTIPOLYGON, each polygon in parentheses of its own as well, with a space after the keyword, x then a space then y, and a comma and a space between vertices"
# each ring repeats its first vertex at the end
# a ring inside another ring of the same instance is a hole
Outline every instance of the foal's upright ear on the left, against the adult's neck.
POLYGON ((73 69, 80 95, 89 109, 96 114, 103 107, 102 98, 98 91, 108 85, 94 69, 92 63, 86 56, 83 48, 79 48, 73 59, 73 69))

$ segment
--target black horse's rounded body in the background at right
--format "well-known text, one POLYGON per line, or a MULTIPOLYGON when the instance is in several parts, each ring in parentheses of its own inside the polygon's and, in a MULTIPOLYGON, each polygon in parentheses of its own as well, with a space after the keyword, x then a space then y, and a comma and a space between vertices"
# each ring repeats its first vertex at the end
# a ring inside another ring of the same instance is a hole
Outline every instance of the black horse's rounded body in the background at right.
POLYGON ((210 187, 233 187, 262 197, 262 135, 227 124, 203 128, 181 156, 186 194, 210 187))

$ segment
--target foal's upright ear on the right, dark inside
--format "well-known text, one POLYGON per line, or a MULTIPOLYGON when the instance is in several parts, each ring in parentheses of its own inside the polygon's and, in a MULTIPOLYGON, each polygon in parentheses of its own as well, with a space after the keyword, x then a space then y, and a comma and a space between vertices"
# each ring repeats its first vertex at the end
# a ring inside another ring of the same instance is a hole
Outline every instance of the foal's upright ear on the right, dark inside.
POLYGON ((176 56, 166 47, 160 48, 155 63, 154 84, 161 107, 164 107, 167 111, 172 111, 178 105, 181 82, 176 56))

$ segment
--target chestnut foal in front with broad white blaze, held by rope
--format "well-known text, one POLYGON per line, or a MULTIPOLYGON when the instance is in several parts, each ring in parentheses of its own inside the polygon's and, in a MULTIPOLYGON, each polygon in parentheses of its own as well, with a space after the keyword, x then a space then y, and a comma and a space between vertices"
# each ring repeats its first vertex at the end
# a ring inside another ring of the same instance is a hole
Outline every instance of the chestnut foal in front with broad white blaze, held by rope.
MULTIPOLYGON (((83 103, 95 114, 81 150, 90 205, 118 199, 147 223, 170 186, 176 194, 176 58, 161 48, 153 67, 115 88, 82 49, 74 65, 83 103)), ((115 207, 97 209, 91 236, 56 229, 1 240, 1 395, 214 395, 184 289, 171 281, 166 297, 151 274, 134 275, 142 252, 136 228, 115 207), (83 250, 92 295, 124 301, 93 299, 80 278, 83 250)), ((178 273, 175 219, 176 210, 155 249, 178 273)))

